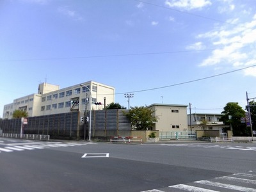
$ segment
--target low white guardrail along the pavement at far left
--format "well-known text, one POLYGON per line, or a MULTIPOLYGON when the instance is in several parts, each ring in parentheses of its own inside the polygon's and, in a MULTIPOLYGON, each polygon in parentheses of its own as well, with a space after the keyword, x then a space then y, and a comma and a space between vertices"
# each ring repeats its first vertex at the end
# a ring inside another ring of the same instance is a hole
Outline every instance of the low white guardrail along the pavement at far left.
POLYGON ((0 137, 3 138, 21 138, 26 140, 50 140, 49 134, 22 134, 20 137, 20 134, 17 133, 2 133, 0 134, 0 137))

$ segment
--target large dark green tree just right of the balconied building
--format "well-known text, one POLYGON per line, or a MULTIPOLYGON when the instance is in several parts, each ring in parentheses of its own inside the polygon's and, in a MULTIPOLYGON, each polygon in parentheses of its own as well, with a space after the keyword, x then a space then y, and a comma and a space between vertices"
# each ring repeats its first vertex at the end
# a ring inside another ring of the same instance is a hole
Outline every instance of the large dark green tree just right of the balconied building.
POLYGON ((245 111, 238 105, 238 102, 228 102, 223 109, 221 121, 225 125, 232 126, 234 136, 250 136, 250 130, 246 129, 244 123, 241 123, 241 118, 245 116, 245 111))

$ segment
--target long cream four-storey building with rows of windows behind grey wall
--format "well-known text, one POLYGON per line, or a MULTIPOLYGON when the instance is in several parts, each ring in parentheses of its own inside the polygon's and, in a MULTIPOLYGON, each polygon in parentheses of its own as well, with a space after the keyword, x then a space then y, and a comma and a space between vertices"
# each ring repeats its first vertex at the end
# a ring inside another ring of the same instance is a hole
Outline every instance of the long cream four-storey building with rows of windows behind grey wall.
POLYGON ((92 109, 104 108, 115 102, 115 88, 106 84, 88 81, 60 89, 60 86, 41 83, 38 93, 14 99, 13 103, 4 105, 3 118, 12 118, 13 111, 23 110, 28 116, 53 115, 70 111, 89 110, 89 98, 92 92, 92 102, 101 102, 100 105, 92 104, 92 109))

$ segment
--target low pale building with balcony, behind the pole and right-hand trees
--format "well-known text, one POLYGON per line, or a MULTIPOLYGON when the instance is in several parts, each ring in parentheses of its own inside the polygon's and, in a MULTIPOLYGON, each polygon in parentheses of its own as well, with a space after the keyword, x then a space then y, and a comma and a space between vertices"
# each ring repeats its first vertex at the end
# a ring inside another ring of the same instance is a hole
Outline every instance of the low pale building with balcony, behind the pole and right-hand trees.
POLYGON ((221 122, 221 114, 214 113, 191 113, 191 126, 190 126, 190 114, 188 115, 188 129, 192 131, 196 130, 219 130, 222 132, 227 125, 221 122))

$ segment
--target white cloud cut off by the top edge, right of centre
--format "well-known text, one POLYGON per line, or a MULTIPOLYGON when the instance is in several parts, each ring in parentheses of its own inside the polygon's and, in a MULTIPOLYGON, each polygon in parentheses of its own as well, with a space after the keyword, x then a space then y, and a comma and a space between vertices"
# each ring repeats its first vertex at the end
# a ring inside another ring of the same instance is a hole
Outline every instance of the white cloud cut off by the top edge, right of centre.
POLYGON ((210 0, 166 0, 165 4, 170 7, 184 8, 185 10, 200 9, 211 5, 210 0))

